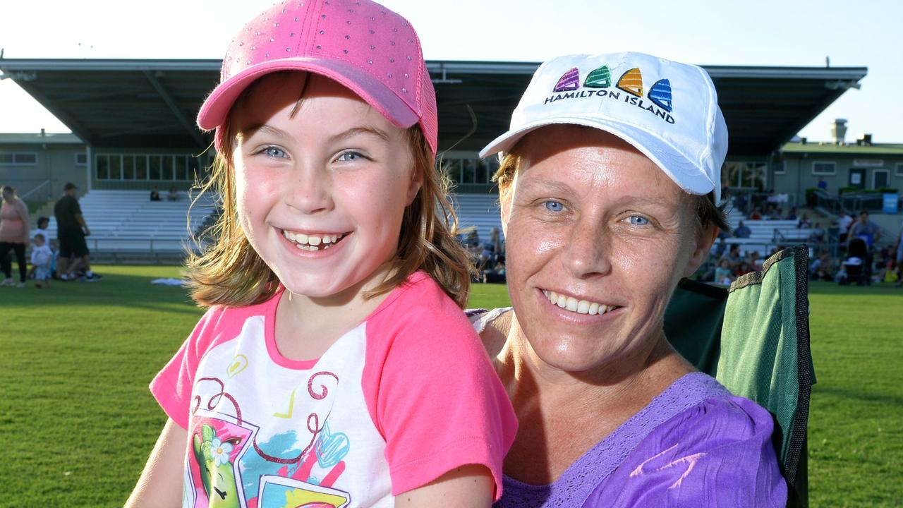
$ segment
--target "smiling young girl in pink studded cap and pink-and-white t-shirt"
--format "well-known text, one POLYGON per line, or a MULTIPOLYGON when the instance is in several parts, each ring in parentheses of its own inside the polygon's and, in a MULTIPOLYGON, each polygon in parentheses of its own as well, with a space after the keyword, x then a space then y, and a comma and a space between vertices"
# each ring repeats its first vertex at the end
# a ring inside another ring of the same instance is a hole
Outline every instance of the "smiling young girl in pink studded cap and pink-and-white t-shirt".
POLYGON ((210 309, 151 383, 169 420, 128 505, 498 499, 517 422, 461 313, 410 24, 366 0, 275 5, 237 33, 198 123, 223 208, 189 262, 210 309))

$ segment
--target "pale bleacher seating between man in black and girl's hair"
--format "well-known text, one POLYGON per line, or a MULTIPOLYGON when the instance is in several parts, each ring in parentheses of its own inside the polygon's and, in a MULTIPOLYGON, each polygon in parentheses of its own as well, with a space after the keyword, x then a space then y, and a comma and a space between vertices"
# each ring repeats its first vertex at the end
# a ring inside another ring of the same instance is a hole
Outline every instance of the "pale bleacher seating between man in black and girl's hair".
MULTIPOLYGON (((88 249, 95 252, 176 254, 184 250, 195 228, 213 211, 208 197, 191 205, 187 193, 175 202, 152 202, 146 191, 95 190, 79 198, 91 235, 88 249), (188 222, 191 207, 191 224, 188 222), (191 229, 189 229, 191 228, 191 229)), ((56 219, 48 227, 56 237, 56 219)))

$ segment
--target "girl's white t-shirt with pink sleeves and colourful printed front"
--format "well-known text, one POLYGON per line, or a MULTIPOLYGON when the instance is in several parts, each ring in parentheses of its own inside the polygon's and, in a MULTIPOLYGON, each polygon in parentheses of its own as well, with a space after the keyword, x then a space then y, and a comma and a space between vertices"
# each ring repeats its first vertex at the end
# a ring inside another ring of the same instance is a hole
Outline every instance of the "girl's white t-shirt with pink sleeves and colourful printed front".
POLYGON ((188 429, 182 506, 393 506, 468 464, 489 467, 498 499, 517 419, 432 278, 415 273, 306 362, 276 348, 280 296, 211 308, 151 382, 188 429))

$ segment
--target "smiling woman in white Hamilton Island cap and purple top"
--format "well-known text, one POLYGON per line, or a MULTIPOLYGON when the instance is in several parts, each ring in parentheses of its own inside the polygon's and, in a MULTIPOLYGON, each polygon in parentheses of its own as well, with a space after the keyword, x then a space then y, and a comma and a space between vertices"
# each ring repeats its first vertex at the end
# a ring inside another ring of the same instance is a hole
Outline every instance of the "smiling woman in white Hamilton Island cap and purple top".
POLYGON ((705 71, 621 53, 543 64, 480 154, 504 155, 513 308, 472 319, 520 425, 498 506, 786 503, 768 412, 663 332, 726 228, 726 151, 705 71))

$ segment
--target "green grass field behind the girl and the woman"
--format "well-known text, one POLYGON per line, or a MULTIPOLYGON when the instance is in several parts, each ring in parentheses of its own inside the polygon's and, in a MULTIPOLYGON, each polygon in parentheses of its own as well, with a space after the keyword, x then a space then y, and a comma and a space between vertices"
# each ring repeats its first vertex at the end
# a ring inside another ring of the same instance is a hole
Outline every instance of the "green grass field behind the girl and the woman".
MULTIPOLYGON (((0 291, 0 506, 119 506, 163 425, 147 383, 200 316, 176 267, 0 291)), ((903 500, 903 289, 815 284, 812 506, 903 500)), ((507 303, 476 286, 471 306, 507 303)))

